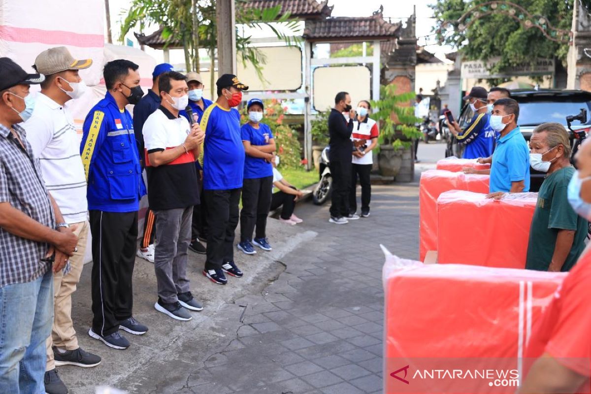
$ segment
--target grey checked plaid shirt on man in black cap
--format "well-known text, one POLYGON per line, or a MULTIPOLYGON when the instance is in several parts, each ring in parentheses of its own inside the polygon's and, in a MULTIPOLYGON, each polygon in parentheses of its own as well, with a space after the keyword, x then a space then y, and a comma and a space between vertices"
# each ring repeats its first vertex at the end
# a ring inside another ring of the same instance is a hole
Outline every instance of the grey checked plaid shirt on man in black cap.
MULTIPOLYGON (((0 202, 10 203, 44 226, 56 225, 51 200, 37 159, 25 138, 25 130, 14 125, 25 149, 10 129, 0 125, 0 202)), ((49 245, 9 233, 0 227, 0 287, 31 282, 44 275, 51 263, 41 262, 49 245)))

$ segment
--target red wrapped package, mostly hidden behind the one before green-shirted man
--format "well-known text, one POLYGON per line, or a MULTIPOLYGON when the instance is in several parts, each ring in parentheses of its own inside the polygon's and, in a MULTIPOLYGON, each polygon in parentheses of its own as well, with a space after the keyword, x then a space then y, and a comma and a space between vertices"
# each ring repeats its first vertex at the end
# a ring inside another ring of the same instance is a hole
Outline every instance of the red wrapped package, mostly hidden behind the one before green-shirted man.
POLYGON ((419 201, 419 256, 424 261, 429 250, 437 250, 437 198, 444 191, 469 190, 488 193, 489 175, 428 170, 421 174, 419 201))

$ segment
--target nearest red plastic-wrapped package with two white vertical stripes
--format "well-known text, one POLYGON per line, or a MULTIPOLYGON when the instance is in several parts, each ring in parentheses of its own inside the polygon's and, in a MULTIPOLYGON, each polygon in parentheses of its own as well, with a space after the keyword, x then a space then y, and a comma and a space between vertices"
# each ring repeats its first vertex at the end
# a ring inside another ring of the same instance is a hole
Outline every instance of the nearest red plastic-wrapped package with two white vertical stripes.
POLYGON ((531 328, 566 275, 387 256, 384 392, 514 393, 531 328))

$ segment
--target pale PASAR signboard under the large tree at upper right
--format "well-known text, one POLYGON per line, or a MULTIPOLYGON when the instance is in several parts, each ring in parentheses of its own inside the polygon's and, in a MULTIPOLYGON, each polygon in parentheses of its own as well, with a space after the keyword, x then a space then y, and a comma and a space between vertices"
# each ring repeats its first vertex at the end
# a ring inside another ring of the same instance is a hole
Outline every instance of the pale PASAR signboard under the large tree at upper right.
POLYGON ((520 63, 512 66, 502 73, 491 74, 489 71, 500 60, 499 57, 490 58, 487 61, 472 60, 462 62, 462 79, 486 79, 486 78, 508 78, 515 76, 540 76, 554 74, 553 59, 537 59, 532 65, 530 63, 520 63))

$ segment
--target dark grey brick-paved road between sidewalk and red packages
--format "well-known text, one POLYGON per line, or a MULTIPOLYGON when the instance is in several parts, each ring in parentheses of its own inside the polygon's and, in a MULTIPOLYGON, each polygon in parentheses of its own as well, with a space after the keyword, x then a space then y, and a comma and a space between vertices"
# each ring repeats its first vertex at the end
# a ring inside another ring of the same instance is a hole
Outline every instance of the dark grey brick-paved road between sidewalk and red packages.
POLYGON ((371 216, 329 224, 328 206, 297 214, 319 235, 248 305, 236 337, 195 369, 179 393, 379 393, 382 243, 418 255, 417 184, 374 186, 371 216))

